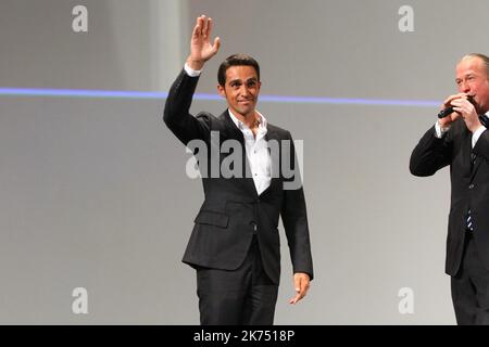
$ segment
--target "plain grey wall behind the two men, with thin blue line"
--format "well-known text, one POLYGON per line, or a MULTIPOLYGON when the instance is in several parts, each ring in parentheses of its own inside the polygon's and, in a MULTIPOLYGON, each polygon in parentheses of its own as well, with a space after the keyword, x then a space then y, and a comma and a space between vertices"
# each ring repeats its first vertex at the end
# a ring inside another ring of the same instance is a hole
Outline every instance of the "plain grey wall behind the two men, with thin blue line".
MULTIPOLYGON (((455 90, 456 61, 485 52, 487 10, 482 0, 3 0, 0 86, 167 91, 205 13, 223 46, 199 92, 214 92, 218 63, 240 51, 260 61, 262 94, 441 102, 455 90), (88 34, 71 30, 78 3, 88 34), (398 29, 403 4, 414 33, 398 29)), ((198 323, 195 274, 180 258, 203 194, 185 175, 189 156, 163 126, 163 105, 0 95, 0 323, 198 323), (77 286, 88 290, 88 314, 72 312, 77 286)), ((283 242, 276 323, 453 324, 448 170, 419 179, 408 169, 437 108, 259 108, 304 140, 316 271, 308 297, 289 306, 283 242), (398 311, 401 287, 414 291, 413 314, 398 311)))

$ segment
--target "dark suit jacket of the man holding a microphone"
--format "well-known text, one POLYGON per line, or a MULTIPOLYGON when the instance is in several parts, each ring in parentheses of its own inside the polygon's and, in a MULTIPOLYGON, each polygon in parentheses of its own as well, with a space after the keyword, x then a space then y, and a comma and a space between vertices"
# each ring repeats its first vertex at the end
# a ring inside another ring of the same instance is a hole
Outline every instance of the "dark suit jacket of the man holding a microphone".
POLYGON ((446 272, 451 275, 456 274, 462 260, 468 209, 478 254, 489 269, 489 131, 482 132, 473 150, 477 155, 474 166, 471 151, 472 132, 457 119, 441 139, 435 137, 435 127, 430 128, 411 155, 410 169, 415 176, 431 176, 450 165, 446 272))

